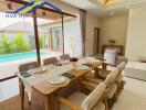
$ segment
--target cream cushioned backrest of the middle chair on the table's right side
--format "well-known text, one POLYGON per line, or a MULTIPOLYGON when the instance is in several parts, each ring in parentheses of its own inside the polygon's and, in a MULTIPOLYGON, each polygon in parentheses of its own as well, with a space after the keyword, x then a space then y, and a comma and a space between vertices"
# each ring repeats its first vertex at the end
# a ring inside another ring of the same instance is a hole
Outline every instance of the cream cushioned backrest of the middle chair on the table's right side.
POLYGON ((112 84, 115 79, 116 79, 116 76, 118 75, 118 68, 116 67, 105 79, 105 84, 106 85, 109 85, 112 84))

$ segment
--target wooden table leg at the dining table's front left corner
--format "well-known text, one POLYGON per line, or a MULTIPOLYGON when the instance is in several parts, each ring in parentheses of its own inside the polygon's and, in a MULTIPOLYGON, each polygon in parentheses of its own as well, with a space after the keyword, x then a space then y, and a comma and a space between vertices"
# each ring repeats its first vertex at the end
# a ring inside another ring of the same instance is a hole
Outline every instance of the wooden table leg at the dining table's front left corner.
POLYGON ((21 109, 24 108, 24 86, 22 81, 20 82, 20 98, 21 98, 21 109))

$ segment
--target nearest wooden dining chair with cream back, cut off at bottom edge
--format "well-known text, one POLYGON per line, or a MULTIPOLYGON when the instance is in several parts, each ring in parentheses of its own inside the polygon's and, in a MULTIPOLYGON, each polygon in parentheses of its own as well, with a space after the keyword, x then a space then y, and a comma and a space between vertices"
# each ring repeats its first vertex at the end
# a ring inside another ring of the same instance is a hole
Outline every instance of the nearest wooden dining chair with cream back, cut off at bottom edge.
POLYGON ((75 91, 69 98, 59 97, 60 110, 107 110, 106 84, 101 82, 90 94, 75 91))

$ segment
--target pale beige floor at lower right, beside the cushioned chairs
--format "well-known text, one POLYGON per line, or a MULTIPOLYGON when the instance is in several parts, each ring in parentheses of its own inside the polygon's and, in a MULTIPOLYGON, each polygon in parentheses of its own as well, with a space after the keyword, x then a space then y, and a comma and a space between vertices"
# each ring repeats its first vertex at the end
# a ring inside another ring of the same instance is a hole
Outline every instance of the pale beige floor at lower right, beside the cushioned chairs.
POLYGON ((146 110, 146 81, 124 79, 126 85, 113 110, 146 110))

